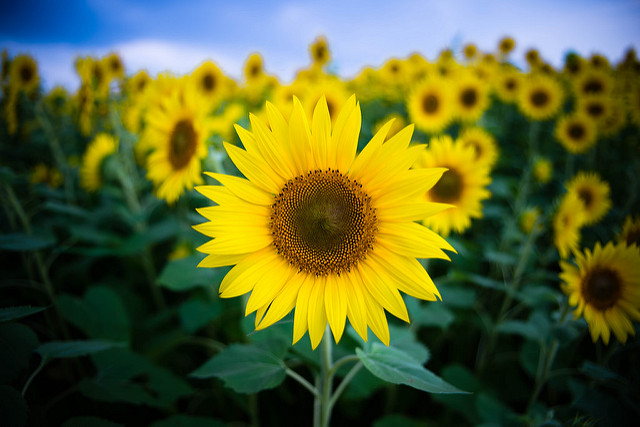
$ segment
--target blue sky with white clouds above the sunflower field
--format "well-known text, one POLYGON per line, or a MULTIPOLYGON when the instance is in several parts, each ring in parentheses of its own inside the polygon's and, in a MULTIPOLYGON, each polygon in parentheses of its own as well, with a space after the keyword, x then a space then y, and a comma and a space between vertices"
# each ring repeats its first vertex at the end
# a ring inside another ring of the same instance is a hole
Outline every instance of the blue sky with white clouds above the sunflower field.
POLYGON ((211 59, 236 78, 257 51, 289 81, 318 35, 343 77, 415 51, 433 59, 468 42, 494 50, 505 35, 516 60, 535 47, 556 66, 569 50, 614 62, 640 50, 640 0, 15 0, 2 9, 0 49, 34 56, 47 88, 75 89, 74 58, 112 51, 129 72, 182 74, 211 59))

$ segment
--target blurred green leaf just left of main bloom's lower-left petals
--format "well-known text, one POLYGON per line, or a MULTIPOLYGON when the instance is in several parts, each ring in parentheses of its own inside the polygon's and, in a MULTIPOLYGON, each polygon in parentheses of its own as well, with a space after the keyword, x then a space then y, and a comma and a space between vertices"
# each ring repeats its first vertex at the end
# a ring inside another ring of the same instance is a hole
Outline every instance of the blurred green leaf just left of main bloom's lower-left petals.
POLYGON ((198 268, 200 254, 170 261, 158 277, 157 283, 172 291, 188 291, 198 286, 218 286, 229 271, 228 267, 198 268))

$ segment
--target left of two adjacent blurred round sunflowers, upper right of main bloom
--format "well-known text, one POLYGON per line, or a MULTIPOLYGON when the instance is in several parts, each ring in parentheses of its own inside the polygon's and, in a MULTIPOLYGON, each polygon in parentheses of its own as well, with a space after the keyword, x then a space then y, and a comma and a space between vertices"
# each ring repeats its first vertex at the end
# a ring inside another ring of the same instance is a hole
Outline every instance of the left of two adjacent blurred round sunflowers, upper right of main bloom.
POLYGON ((440 77, 429 77, 418 83, 407 99, 407 110, 410 120, 421 131, 443 131, 453 119, 451 83, 440 77))

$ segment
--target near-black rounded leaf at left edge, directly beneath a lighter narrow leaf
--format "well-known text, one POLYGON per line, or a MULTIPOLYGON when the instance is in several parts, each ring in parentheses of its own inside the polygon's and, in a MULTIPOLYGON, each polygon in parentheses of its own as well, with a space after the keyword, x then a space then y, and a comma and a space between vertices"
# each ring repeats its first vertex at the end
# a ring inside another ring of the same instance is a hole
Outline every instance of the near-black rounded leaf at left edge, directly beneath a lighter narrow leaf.
POLYGON ((0 383, 13 381, 29 367, 29 358, 38 346, 38 337, 20 323, 0 324, 0 383))

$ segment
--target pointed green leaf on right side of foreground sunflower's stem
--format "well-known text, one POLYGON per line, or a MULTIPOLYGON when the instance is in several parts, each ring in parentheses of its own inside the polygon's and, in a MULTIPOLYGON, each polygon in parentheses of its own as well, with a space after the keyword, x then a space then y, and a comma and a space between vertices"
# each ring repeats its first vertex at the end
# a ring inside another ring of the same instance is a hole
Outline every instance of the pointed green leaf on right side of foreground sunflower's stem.
POLYGON ((394 383, 405 384, 429 393, 466 393, 427 370, 407 353, 383 344, 373 343, 371 350, 356 349, 364 366, 375 376, 394 383))

